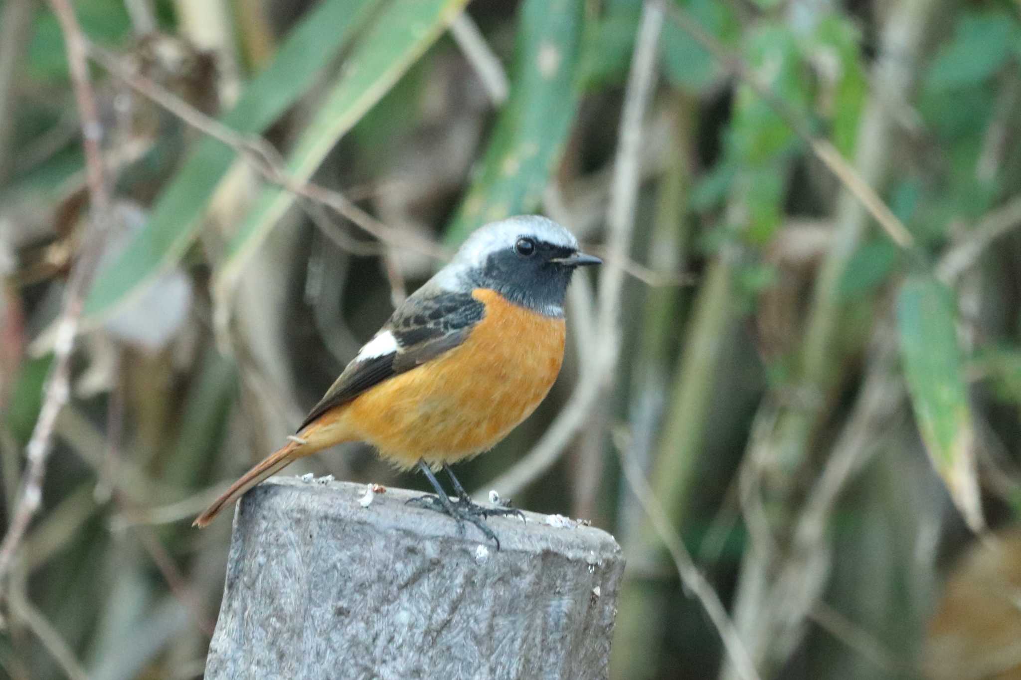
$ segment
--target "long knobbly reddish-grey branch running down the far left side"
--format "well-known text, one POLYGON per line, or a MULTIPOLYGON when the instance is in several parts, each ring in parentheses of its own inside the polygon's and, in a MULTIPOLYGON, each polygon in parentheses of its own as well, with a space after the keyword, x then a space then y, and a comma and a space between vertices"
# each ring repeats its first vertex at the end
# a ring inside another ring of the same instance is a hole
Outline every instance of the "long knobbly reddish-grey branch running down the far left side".
POLYGON ((87 226, 90 233, 82 241, 85 247, 67 282, 53 347, 53 369, 46 383, 39 420, 29 440, 28 466, 14 515, 0 543, 0 583, 6 579, 26 529, 42 505, 43 479, 46 476, 46 461, 52 450, 53 427, 57 414, 68 400, 70 355, 75 347, 75 336, 78 334, 82 308, 85 305, 85 293, 99 263, 111 215, 110 196, 103 176, 103 159, 99 147, 102 127, 99 124, 96 100, 89 82, 85 37, 82 35, 69 0, 49 0, 49 2, 63 34, 71 86, 82 120, 82 144, 85 148, 86 177, 91 201, 87 226))

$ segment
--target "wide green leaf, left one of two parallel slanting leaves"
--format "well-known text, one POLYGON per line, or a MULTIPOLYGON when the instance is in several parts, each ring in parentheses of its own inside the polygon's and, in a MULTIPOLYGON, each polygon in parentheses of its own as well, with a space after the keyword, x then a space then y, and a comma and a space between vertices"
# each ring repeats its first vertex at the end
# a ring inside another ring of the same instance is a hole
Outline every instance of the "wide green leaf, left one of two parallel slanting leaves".
MULTIPOLYGON (((378 0, 326 0, 288 35, 273 61, 245 88, 222 121, 241 133, 269 127, 304 94, 347 44, 378 0)), ((202 140, 163 191, 145 228, 94 282, 86 314, 108 313, 144 283, 173 266, 201 224, 205 207, 237 154, 202 140)))

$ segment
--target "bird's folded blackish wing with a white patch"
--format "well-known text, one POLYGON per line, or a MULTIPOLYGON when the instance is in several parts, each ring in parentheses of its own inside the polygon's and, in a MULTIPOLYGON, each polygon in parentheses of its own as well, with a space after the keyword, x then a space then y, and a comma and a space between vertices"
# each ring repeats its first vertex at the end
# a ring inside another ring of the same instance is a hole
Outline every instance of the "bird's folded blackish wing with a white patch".
POLYGON ((416 292, 347 364, 298 432, 330 409, 457 347, 485 311, 485 305, 468 293, 416 292))

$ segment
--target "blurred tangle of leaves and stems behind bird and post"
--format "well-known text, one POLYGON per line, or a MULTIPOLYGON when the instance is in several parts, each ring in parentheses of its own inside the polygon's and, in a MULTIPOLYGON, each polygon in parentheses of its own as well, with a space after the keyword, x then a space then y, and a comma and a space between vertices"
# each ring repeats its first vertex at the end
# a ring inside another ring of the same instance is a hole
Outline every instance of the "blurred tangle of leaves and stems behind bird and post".
POLYGON ((613 678, 1021 678, 1021 3, 78 0, 98 188, 61 5, 0 0, 0 675, 200 677, 193 516, 543 212, 606 264, 459 474, 617 536, 613 678))

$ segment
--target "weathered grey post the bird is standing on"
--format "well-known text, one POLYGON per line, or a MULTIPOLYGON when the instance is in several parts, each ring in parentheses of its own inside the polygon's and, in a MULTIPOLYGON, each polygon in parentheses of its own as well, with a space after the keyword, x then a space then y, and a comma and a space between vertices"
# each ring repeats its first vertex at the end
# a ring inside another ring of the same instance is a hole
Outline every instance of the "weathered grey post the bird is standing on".
POLYGON ((364 492, 275 477, 242 500, 206 678, 606 677, 613 536, 526 513, 488 520, 496 553, 415 492, 364 492))

